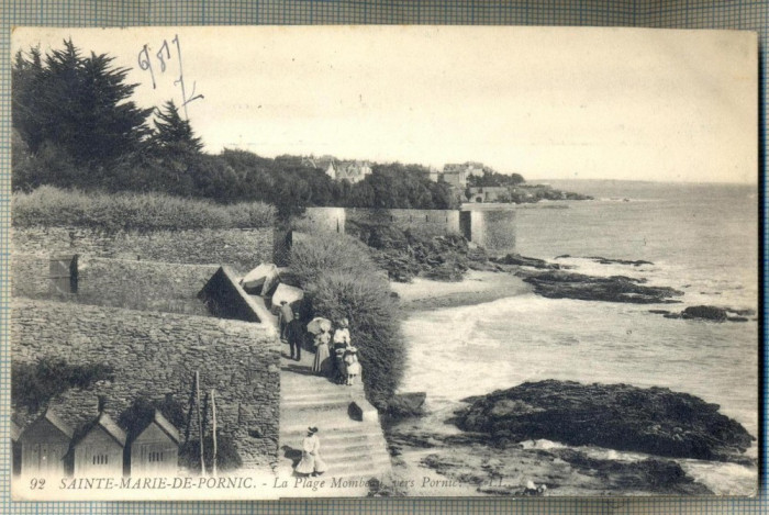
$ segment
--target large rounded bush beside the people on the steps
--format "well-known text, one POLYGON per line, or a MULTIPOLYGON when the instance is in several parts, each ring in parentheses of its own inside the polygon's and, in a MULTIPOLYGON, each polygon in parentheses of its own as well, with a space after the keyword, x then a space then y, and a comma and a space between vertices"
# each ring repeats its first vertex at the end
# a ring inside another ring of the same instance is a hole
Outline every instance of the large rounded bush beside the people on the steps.
POLYGON ((307 291, 311 316, 349 320, 368 400, 387 407, 403 374, 405 348, 382 270, 360 242, 343 235, 303 235, 291 250, 291 268, 307 291))

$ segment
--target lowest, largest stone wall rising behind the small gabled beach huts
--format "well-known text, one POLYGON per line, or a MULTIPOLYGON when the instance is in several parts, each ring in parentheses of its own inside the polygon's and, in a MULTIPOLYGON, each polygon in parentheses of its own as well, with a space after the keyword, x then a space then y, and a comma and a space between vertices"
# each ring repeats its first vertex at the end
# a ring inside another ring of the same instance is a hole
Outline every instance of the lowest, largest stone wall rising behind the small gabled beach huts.
MULTIPOLYGON (((63 358, 70 365, 105 363, 113 381, 73 389, 51 406, 71 426, 97 414, 98 395, 115 421, 138 396, 170 395, 188 406, 196 370, 203 393, 216 391, 222 435, 233 439, 244 467, 277 461, 280 411, 280 344, 275 329, 254 323, 14 299, 11 359, 63 358)), ((38 413, 15 410, 25 426, 38 413)), ((185 427, 179 428, 185 434, 185 427)), ((196 424, 191 438, 198 437, 196 424)))

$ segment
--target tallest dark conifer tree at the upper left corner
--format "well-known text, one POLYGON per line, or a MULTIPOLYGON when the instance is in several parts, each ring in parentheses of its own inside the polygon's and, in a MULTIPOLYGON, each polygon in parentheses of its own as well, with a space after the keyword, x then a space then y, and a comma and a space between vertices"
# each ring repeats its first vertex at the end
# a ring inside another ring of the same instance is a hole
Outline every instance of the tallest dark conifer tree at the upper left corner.
MULTIPOLYGON (((152 109, 129 99, 137 85, 113 57, 82 57, 71 40, 42 58, 18 53, 13 69, 13 127, 35 155, 44 144, 71 156, 78 166, 104 170, 144 148, 152 109)), ((69 184, 88 187, 90 184, 69 184)))

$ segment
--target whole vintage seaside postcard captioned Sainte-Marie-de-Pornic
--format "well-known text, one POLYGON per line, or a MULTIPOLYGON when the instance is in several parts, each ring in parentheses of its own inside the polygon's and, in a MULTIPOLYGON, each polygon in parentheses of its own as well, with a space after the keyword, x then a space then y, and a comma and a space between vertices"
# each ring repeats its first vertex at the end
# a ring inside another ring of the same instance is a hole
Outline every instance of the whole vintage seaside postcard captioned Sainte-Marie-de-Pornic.
POLYGON ((756 494, 756 34, 12 52, 14 500, 756 494))

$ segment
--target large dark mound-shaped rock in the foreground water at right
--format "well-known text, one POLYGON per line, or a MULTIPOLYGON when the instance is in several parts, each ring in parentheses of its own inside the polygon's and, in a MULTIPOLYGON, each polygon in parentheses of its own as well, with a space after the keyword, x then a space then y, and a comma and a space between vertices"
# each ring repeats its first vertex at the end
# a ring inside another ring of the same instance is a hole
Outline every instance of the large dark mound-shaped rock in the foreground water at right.
POLYGON ((539 381, 468 399, 457 413, 464 430, 505 445, 546 438, 568 445, 658 456, 745 461, 755 438, 736 421, 687 393, 627 384, 539 381))

